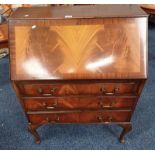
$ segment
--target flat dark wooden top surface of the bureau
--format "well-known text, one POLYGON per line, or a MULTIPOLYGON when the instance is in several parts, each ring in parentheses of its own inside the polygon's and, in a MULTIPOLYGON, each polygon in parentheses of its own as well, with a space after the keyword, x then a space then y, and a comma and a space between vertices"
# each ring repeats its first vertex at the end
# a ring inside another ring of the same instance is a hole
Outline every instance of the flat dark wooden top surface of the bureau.
POLYGON ((84 5, 19 8, 10 19, 66 19, 141 17, 147 14, 138 5, 84 5))

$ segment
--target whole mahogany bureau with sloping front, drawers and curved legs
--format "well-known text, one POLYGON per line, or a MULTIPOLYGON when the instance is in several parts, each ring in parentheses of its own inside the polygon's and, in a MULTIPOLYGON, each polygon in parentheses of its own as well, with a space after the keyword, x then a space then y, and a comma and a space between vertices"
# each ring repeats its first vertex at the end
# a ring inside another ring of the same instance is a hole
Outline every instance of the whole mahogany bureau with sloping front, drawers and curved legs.
POLYGON ((137 5, 15 11, 11 80, 36 143, 47 123, 114 123, 124 142, 147 79, 147 20, 137 5))

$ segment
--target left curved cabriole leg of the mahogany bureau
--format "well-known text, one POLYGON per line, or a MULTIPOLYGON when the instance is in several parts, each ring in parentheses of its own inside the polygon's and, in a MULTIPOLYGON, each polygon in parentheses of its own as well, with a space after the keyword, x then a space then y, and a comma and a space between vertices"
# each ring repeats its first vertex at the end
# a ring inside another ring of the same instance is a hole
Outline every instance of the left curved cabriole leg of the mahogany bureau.
POLYGON ((41 139, 40 136, 38 134, 38 132, 36 131, 36 129, 39 127, 40 125, 34 125, 34 124, 29 124, 28 125, 28 131, 34 136, 35 138, 35 142, 37 144, 40 144, 41 139))

